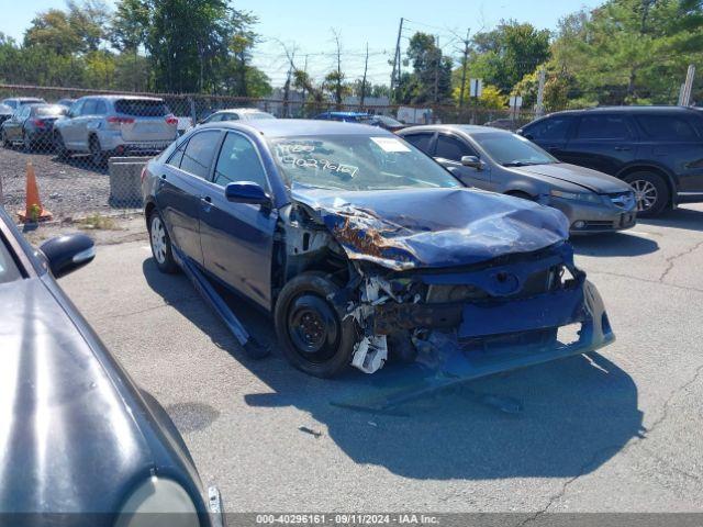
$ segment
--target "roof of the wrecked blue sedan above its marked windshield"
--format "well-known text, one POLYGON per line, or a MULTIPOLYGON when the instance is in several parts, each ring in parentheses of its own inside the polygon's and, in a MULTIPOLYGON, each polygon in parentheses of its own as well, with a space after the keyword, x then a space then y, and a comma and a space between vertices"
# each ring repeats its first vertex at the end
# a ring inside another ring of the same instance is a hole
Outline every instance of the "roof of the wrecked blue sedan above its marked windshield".
POLYGON ((263 119, 247 121, 224 121, 203 124, 203 128, 249 128, 267 137, 300 137, 306 135, 390 135, 394 134, 368 124, 339 123, 336 121, 319 121, 311 119, 263 119))

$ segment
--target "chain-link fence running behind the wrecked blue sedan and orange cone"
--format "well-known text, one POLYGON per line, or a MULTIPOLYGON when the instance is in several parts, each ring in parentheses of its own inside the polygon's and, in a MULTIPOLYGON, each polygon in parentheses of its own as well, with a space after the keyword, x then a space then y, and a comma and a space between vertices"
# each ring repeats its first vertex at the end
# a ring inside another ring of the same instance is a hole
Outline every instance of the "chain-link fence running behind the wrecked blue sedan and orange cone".
POLYGON ((294 96, 286 101, 0 85, 0 203, 29 221, 46 220, 49 213, 55 221, 69 221, 140 211, 146 161, 220 110, 259 110, 279 119, 354 111, 406 124, 475 123, 511 130, 534 117, 470 105, 338 105, 294 96))

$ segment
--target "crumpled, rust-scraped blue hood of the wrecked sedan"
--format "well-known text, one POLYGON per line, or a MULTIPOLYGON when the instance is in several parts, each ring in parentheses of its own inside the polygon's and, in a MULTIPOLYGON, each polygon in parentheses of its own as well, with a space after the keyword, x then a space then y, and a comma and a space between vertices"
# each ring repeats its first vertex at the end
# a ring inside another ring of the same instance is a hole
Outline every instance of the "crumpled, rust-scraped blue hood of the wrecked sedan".
POLYGON ((469 189, 365 192, 294 187, 350 259, 404 270, 467 266, 568 238, 556 209, 469 189))

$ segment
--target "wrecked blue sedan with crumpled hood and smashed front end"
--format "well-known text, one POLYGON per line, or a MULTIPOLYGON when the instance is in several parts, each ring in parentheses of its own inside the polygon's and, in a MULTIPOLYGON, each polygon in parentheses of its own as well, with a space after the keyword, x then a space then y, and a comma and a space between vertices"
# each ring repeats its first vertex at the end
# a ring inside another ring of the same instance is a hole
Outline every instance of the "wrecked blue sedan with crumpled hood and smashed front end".
POLYGON ((378 127, 207 124, 142 186, 159 269, 183 270, 245 349, 254 338, 216 291, 272 315, 284 357, 312 375, 373 373, 392 355, 446 384, 614 339, 561 212, 468 189, 378 127))

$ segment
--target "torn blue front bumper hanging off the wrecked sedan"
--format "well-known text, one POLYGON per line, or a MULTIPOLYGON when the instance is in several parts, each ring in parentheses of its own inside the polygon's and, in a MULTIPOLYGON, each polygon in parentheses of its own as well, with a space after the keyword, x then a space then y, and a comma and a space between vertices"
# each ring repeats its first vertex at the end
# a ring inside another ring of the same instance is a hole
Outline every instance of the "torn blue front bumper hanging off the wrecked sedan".
MULTIPOLYGON (((503 310, 507 311, 490 310, 480 318, 483 324, 471 325, 471 319, 464 318, 459 329, 429 330, 423 338, 415 339, 419 355, 406 375, 397 374, 386 385, 377 385, 379 390, 369 397, 333 404, 360 411, 389 411, 436 390, 588 354, 615 340, 603 300, 591 282, 583 279, 577 290, 565 296, 562 302, 551 304, 540 301, 525 302, 522 306, 516 306, 515 302, 504 303, 503 310), (539 305, 544 310, 537 309, 539 305), (529 313, 529 309, 535 311, 529 313), (525 328, 527 324, 532 327, 525 328), (559 328, 574 324, 580 325, 576 338, 560 341, 559 328), (460 335, 462 326, 473 327, 473 333, 464 327, 464 335, 460 335), (501 327, 511 330, 487 334, 501 327)), ((464 310, 462 316, 467 314, 464 310)))

